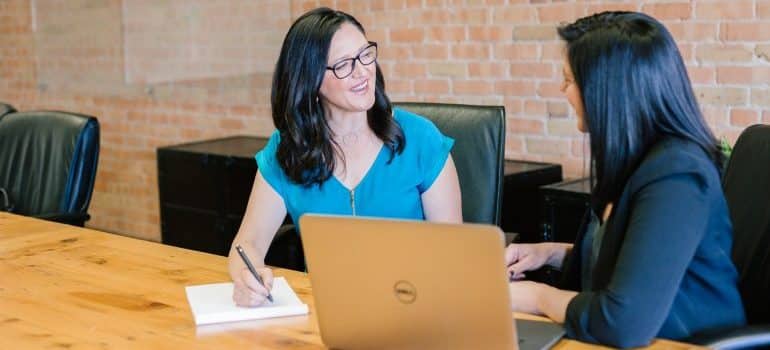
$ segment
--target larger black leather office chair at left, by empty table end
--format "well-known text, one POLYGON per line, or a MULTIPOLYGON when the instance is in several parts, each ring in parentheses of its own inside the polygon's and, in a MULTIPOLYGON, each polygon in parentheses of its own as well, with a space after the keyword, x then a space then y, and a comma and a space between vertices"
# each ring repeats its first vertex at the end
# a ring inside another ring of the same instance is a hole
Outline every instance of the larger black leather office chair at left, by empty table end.
POLYGON ((83 226, 99 160, 99 123, 34 111, 0 119, 0 188, 12 212, 83 226))

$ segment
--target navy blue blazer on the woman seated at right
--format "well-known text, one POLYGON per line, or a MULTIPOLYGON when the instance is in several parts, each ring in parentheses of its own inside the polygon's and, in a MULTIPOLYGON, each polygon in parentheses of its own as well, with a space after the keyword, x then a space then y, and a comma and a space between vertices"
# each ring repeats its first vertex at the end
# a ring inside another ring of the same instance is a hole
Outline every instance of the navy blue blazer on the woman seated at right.
POLYGON ((585 226, 564 266, 567 336, 616 347, 746 323, 720 175, 696 144, 658 142, 631 175, 580 285, 585 226))

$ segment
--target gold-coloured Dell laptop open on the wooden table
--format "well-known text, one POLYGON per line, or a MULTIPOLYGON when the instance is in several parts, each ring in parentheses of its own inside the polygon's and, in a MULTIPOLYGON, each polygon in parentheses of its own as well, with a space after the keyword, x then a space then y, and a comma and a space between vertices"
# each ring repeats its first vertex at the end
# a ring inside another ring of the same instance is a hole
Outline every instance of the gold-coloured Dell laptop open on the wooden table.
POLYGON ((319 215, 299 224, 330 348, 541 348, 563 334, 542 323, 544 340, 517 341, 496 226, 319 215))

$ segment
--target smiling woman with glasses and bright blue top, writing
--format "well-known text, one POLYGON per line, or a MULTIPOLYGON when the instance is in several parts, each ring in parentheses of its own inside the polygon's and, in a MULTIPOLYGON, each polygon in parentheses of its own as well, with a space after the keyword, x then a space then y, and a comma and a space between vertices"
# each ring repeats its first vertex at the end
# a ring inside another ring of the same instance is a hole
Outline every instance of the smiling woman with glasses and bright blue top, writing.
POLYGON ((349 14, 311 10, 292 24, 275 66, 276 131, 230 250, 238 305, 262 304, 272 283, 264 257, 288 212, 462 221, 453 140, 427 119, 393 109, 377 44, 349 14), (235 247, 257 259, 262 284, 235 247))

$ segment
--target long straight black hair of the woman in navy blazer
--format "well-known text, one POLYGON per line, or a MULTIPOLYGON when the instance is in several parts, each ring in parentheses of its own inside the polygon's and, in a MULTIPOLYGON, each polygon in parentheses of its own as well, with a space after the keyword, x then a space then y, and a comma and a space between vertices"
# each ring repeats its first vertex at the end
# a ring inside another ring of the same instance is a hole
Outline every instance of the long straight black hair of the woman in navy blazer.
POLYGON ((674 39, 654 18, 602 12, 558 29, 581 92, 591 138, 594 209, 615 201, 645 154, 664 137, 698 144, 721 168, 674 39))

